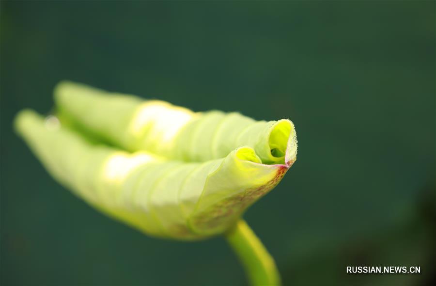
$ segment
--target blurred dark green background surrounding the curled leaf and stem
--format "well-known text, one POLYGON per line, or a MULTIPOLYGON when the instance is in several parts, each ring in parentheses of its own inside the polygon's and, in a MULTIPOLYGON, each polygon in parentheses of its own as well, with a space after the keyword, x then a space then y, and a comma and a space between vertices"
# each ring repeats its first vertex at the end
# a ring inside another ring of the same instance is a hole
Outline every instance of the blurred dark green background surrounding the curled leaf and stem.
POLYGON ((245 215, 284 285, 436 285, 435 1, 1 1, 1 285, 246 285, 222 238, 150 238, 13 132, 62 79, 290 118, 298 160, 245 215), (346 266, 420 266, 350 275, 346 266))

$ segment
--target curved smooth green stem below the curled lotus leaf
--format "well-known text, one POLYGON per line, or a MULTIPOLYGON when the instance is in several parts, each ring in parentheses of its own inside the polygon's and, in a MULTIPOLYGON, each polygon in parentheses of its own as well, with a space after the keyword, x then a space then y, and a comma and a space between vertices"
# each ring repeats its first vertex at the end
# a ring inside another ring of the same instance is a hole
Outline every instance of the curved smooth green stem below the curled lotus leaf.
POLYGON ((280 285, 274 259, 247 222, 239 220, 225 236, 244 265, 252 285, 280 285))

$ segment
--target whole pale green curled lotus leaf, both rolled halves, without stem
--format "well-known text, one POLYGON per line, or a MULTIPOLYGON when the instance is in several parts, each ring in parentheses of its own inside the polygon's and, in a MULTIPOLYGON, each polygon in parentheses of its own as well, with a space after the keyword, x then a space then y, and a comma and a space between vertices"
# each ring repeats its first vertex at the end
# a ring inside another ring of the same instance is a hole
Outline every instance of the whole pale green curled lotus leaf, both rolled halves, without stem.
POLYGON ((18 134, 62 185, 153 236, 225 232, 296 160, 289 120, 193 112, 71 82, 55 101, 60 121, 20 111, 18 134))

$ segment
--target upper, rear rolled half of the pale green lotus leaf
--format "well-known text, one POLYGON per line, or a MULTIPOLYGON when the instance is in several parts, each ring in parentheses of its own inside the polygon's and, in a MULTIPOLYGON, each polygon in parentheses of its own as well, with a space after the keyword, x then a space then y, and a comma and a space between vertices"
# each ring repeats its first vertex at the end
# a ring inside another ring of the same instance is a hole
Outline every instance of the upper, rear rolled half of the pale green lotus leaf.
POLYGON ((64 122, 130 152, 202 162, 248 146, 264 164, 290 165, 296 159, 296 133, 287 119, 255 121, 237 112, 193 112, 69 81, 57 85, 55 101, 64 122))

